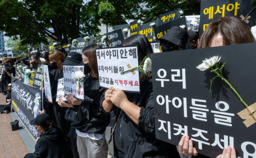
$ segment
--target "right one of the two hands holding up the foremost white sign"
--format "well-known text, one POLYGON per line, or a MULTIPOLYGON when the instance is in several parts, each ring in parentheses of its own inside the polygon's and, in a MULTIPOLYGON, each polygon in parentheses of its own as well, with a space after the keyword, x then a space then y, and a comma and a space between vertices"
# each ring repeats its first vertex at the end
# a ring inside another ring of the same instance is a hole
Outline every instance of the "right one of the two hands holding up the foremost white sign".
POLYGON ((119 88, 116 88, 112 94, 111 94, 111 98, 110 101, 116 105, 116 107, 119 107, 122 109, 122 106, 126 103, 129 102, 129 100, 127 99, 126 94, 120 90, 119 88))

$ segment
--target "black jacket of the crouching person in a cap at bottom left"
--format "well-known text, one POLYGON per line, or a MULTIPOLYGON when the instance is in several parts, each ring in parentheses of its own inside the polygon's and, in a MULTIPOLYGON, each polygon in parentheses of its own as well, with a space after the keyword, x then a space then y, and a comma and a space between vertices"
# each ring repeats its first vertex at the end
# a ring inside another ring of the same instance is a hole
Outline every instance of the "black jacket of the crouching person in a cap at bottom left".
POLYGON ((35 144, 35 158, 62 158, 64 153, 64 134, 57 126, 42 133, 35 144))

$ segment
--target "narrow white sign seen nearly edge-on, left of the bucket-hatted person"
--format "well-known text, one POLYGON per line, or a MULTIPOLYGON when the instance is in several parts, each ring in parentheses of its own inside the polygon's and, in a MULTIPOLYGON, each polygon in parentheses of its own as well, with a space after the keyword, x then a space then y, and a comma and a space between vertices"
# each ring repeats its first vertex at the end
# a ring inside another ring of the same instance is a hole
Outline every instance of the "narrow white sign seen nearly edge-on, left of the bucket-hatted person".
POLYGON ((44 76, 44 89, 45 89, 45 97, 50 99, 52 102, 52 92, 51 92, 51 84, 49 79, 49 71, 48 71, 48 65, 43 65, 43 76, 44 76))

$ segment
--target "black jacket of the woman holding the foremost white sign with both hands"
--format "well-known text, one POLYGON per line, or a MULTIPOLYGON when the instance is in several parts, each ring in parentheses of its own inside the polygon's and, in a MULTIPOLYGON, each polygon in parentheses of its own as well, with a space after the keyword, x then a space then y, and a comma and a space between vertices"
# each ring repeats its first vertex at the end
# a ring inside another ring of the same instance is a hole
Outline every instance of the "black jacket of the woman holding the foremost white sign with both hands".
MULTIPOLYGON (((125 93, 128 100, 140 109, 138 125, 124 111, 117 122, 113 138, 116 158, 179 158, 174 145, 155 138, 154 100, 151 79, 140 82, 139 93, 125 93)), ((101 103, 104 100, 102 96, 101 103)), ((114 127, 121 109, 113 106, 110 115, 114 127)), ((103 135, 105 139, 105 134, 103 135)))

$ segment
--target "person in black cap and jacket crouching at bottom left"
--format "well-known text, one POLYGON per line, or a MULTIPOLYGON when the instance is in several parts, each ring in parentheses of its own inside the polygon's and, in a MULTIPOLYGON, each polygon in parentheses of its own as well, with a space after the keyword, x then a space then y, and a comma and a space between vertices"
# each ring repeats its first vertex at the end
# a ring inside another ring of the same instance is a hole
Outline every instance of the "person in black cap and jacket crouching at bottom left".
POLYGON ((40 114, 30 121, 41 134, 35 144, 35 152, 25 155, 24 158, 63 158, 64 157, 64 134, 61 129, 54 125, 50 116, 40 114))

